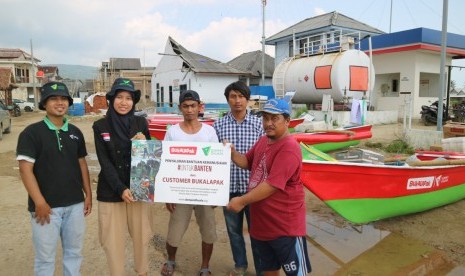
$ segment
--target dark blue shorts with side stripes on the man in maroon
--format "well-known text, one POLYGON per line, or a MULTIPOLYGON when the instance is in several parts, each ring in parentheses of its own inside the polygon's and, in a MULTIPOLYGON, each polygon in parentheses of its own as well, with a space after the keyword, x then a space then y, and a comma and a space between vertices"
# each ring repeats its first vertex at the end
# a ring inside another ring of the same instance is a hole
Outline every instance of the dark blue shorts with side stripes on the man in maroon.
POLYGON ((282 268, 286 275, 307 275, 312 271, 305 237, 280 237, 271 241, 252 238, 252 245, 260 256, 259 271, 282 268))

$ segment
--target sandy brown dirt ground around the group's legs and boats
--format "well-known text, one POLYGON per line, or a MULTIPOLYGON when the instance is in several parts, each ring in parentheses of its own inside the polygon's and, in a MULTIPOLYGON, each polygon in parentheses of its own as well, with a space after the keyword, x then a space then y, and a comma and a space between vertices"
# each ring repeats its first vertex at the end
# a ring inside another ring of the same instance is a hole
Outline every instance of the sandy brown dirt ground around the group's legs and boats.
MULTIPOLYGON (((2 250, 0 253, 0 275, 32 275, 33 274, 33 247, 29 216, 26 210, 27 193, 20 181, 17 162, 15 161, 15 148, 19 132, 31 122, 38 121, 44 113, 23 113, 21 117, 13 118, 12 133, 3 136, 0 141, 0 237, 2 250)), ((83 250, 83 275, 108 275, 106 259, 98 242, 97 202, 95 200, 96 177, 98 162, 93 145, 92 122, 98 116, 85 116, 73 119, 86 137, 89 152, 87 158, 91 172, 92 189, 94 191, 94 212, 87 218, 87 231, 83 250)), ((381 125, 373 128, 372 141, 386 142, 400 137, 402 128, 398 124, 381 125)), ((465 173, 465 172, 464 172, 465 173)), ((309 212, 320 213, 322 216, 331 216, 333 220, 343 219, 335 215, 321 201, 309 192, 309 212)), ((154 238, 150 246, 150 275, 159 275, 161 265, 165 260, 165 236, 168 223, 168 211, 163 204, 153 204, 153 231, 154 238)), ((224 225, 221 208, 216 209, 218 242, 215 244, 211 260, 211 270, 214 275, 227 275, 232 268, 233 261, 229 248, 229 241, 224 225)), ((465 200, 442 208, 421 214, 403 216, 379 221, 374 227, 400 234, 406 238, 420 240, 432 246, 456 265, 465 265, 465 200)), ((309 251, 312 255, 312 247, 309 251)), ((127 245, 127 275, 135 275, 132 270, 132 249, 130 240, 127 245)), ((57 257, 57 273, 61 275, 60 257, 57 257)), ((249 255, 250 268, 253 271, 252 258, 249 255)), ((176 275, 196 275, 200 265, 200 235, 194 219, 183 239, 177 255, 176 275)), ((315 271, 318 263, 312 262, 315 271)), ((321 270, 320 270, 321 271, 321 270)), ((323 270, 324 271, 324 270, 323 270)), ((327 273, 314 273, 315 275, 328 275, 327 273)), ((250 275, 253 275, 251 273, 250 275)))

